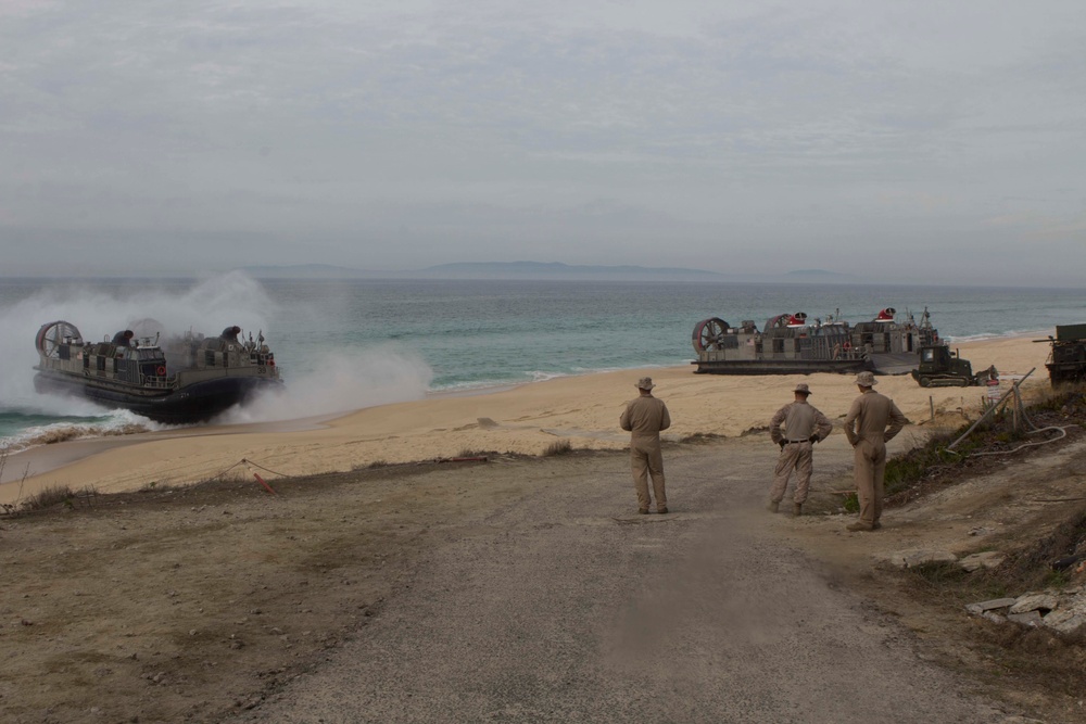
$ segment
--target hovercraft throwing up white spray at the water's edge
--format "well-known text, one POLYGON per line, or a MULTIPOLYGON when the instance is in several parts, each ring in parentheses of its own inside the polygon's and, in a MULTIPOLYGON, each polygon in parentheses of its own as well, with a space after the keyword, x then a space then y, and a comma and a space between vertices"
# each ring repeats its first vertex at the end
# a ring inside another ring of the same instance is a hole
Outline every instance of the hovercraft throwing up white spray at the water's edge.
POLYGON ((261 390, 282 384, 264 334, 239 338, 240 327, 222 334, 188 333, 160 345, 159 334, 122 330, 102 342, 85 342, 67 321, 42 325, 34 388, 121 407, 156 422, 202 422, 261 390))

